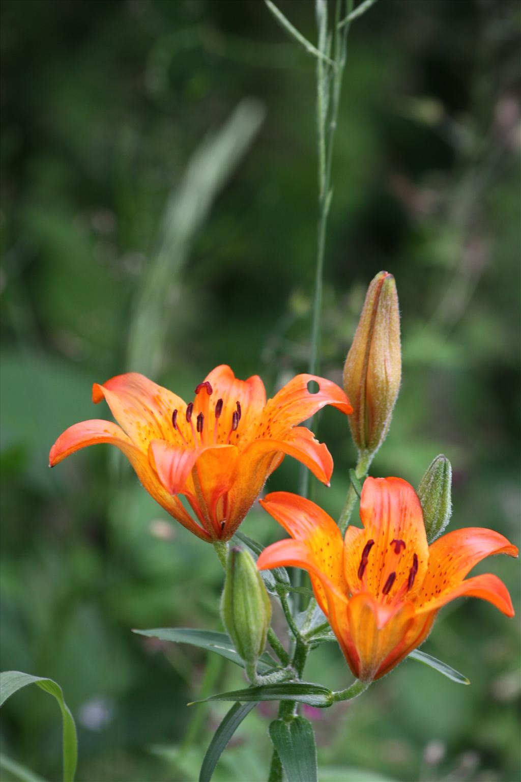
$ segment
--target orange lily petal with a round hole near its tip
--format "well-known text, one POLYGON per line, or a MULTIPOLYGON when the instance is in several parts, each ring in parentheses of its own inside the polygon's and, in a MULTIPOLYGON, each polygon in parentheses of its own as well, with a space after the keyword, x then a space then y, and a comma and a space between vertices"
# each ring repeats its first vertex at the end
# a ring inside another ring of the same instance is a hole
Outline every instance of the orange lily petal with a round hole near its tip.
POLYGON ((292 426, 306 421, 326 405, 337 407, 348 415, 353 408, 344 391, 336 383, 316 375, 297 375, 268 400, 260 423, 260 437, 280 438, 292 426), (316 382, 319 390, 312 393, 309 382, 316 382))

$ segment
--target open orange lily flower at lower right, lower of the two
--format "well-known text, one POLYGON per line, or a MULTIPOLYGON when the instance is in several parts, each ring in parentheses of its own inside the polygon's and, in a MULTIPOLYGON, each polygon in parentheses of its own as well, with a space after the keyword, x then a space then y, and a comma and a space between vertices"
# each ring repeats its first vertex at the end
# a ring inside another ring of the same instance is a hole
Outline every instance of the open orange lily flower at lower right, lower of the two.
POLYGON ((480 527, 456 529, 429 547, 419 499, 401 478, 366 479, 363 529, 348 527, 344 541, 333 519, 310 500, 274 492, 261 504, 294 540, 262 551, 259 569, 291 565, 309 572, 316 601, 358 679, 379 679, 398 665, 455 597, 481 597, 514 615, 497 576, 464 579, 490 554, 515 557, 517 548, 480 527))

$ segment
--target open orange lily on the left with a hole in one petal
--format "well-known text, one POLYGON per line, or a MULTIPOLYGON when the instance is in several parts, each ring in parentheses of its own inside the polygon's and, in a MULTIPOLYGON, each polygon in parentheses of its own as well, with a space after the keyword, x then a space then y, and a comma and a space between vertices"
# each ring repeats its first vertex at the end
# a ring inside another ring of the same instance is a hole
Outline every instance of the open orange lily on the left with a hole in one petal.
POLYGON ((103 398, 120 426, 101 420, 71 426, 52 446, 50 466, 88 445, 112 443, 156 502, 209 542, 234 534, 284 454, 329 484, 330 452, 297 424, 327 404, 352 412, 344 391, 324 378, 297 375, 266 402, 261 378, 237 380, 225 364, 199 383, 189 404, 137 372, 95 383, 92 400, 103 398), (310 381, 317 393, 309 392, 310 381))

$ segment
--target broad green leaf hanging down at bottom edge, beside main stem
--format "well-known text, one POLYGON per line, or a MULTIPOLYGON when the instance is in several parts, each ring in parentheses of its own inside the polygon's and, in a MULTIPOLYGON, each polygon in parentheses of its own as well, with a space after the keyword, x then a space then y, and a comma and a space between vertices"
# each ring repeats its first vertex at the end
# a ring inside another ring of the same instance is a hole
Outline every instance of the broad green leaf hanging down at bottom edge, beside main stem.
POLYGON ((275 719, 269 726, 269 737, 287 782, 317 782, 315 734, 308 719, 297 716, 290 723, 275 719))

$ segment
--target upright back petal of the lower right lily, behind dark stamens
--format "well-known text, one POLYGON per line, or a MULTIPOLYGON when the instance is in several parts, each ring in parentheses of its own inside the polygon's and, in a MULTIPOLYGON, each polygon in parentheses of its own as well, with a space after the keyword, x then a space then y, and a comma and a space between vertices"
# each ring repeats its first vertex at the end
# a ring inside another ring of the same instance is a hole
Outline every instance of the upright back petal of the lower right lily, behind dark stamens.
POLYGON ((421 587, 429 561, 423 512, 415 490, 401 478, 367 478, 360 498, 360 518, 364 526, 348 528, 345 536, 345 575, 351 591, 359 590, 359 566, 364 546, 369 540, 374 545, 369 552, 364 577, 366 589, 379 594, 391 572, 395 573, 390 597, 408 582, 409 572, 416 554, 418 567, 408 599, 421 587), (401 541, 405 548, 392 558, 394 541, 401 541))

